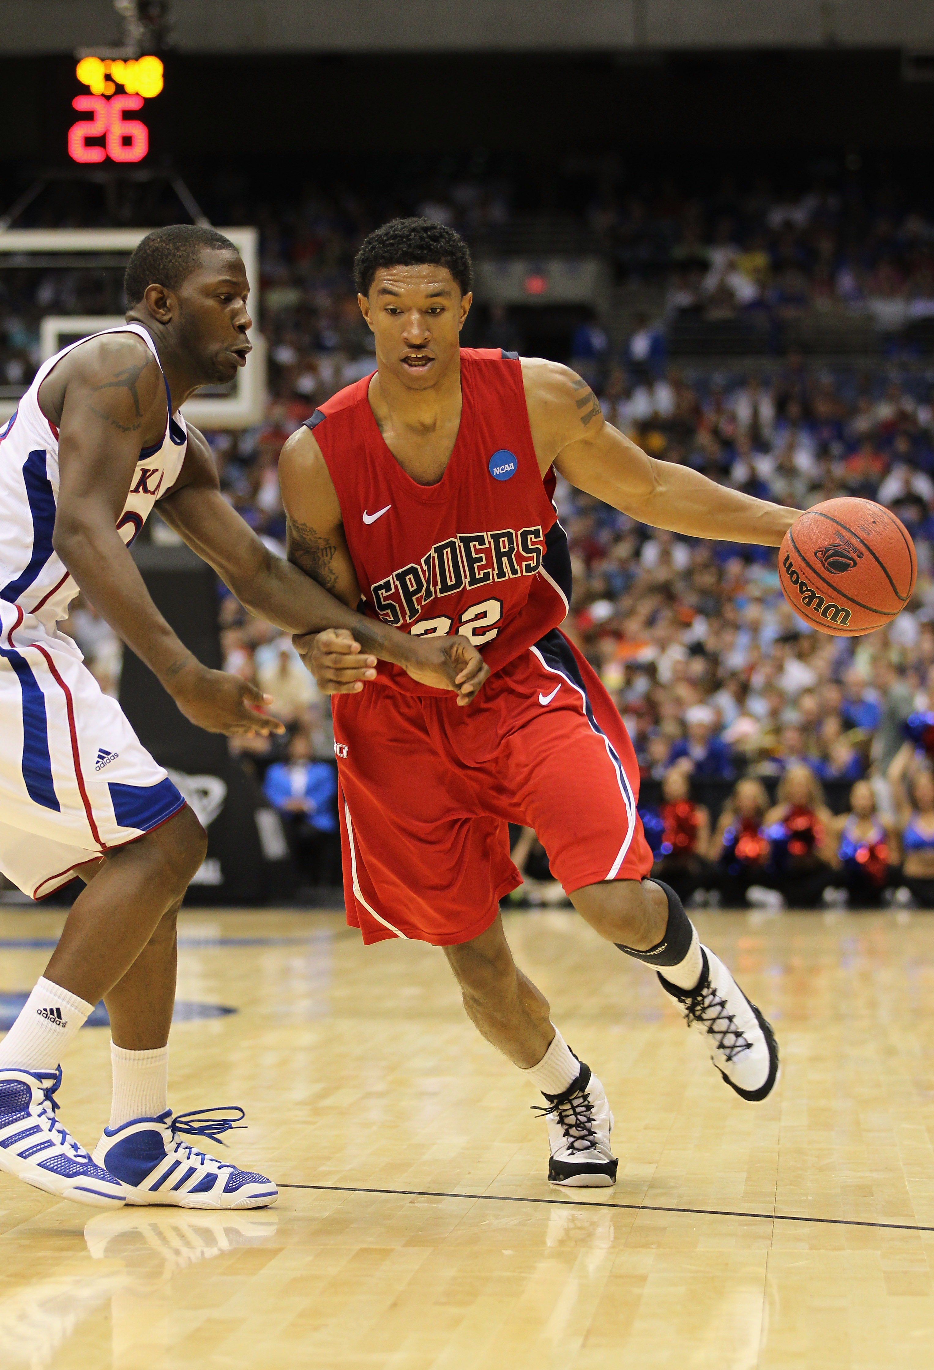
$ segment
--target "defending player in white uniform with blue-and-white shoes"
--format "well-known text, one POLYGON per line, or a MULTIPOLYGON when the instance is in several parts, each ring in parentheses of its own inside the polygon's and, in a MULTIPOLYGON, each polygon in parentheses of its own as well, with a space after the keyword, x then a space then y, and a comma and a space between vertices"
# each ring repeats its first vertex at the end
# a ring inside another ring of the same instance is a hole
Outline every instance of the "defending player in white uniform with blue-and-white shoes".
POLYGON ((286 632, 351 629, 373 656, 462 703, 489 674, 464 637, 409 637, 353 614, 274 558, 222 497, 210 448, 178 407, 244 366, 248 290, 222 234, 155 230, 126 271, 126 327, 47 362, 0 434, 0 870, 36 899, 86 882, 0 1043, 0 1170, 103 1207, 264 1207, 278 1193, 192 1145, 231 1119, 168 1108, 175 915, 205 834, 58 630, 68 601, 81 590, 193 723, 282 730, 270 696, 204 667, 152 603, 127 547, 157 500, 241 603, 286 632), (55 1092, 100 999, 114 1093, 92 1158, 56 1122, 55 1092))

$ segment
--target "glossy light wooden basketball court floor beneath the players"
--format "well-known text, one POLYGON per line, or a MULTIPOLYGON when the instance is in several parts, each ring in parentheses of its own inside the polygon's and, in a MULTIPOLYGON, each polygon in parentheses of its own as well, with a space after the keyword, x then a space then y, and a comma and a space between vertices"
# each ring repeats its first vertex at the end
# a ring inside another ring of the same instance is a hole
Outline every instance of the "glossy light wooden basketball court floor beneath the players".
MULTIPOLYGON (((186 914, 179 1000, 237 1011, 175 1023, 173 1101, 244 1104, 230 1152, 279 1204, 94 1214, 0 1175, 3 1370, 929 1370, 934 915, 698 923, 778 1030, 764 1104, 574 914, 508 918, 616 1115, 616 1188, 567 1192, 440 951, 364 949, 338 914, 186 914)), ((0 914, 0 992, 59 926, 0 914)), ((67 1067, 93 1145, 105 1028, 67 1067)))

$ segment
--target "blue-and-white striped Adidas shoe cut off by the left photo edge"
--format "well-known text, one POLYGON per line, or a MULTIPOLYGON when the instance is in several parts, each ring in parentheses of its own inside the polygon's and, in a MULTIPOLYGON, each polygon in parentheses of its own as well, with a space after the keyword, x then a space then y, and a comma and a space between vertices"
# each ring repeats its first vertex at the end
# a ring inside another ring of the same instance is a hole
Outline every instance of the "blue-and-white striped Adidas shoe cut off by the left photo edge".
POLYGON ((121 1208, 126 1191, 55 1121, 58 1070, 0 1070, 0 1170, 59 1199, 121 1208))

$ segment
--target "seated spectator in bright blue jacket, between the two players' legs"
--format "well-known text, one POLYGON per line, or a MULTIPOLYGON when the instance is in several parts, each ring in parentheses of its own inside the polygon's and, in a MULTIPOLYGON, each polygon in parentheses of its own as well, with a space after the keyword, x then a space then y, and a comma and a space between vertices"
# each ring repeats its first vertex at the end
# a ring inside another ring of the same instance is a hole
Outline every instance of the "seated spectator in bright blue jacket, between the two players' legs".
POLYGON ((268 767, 263 790, 282 818, 300 875, 311 885, 340 885, 337 769, 312 759, 305 733, 290 740, 288 762, 268 767))

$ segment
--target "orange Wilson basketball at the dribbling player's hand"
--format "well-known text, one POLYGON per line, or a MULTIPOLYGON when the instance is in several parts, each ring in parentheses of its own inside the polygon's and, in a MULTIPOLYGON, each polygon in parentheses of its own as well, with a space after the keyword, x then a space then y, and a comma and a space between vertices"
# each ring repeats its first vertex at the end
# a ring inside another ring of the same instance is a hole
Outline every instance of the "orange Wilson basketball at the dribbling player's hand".
POLYGON ((785 599, 805 623, 834 637, 890 623, 911 599, 916 575, 908 529, 871 500, 815 504, 787 530, 778 553, 785 599))

